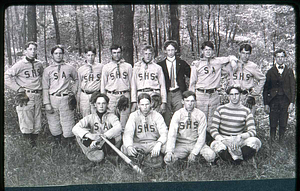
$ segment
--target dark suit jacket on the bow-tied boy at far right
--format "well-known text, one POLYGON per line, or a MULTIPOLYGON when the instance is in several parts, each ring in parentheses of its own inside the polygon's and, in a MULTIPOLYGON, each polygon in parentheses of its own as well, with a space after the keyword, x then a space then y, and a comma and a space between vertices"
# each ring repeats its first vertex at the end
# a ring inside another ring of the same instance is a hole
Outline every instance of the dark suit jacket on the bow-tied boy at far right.
POLYGON ((280 83, 282 83, 283 92, 290 100, 290 103, 295 103, 296 87, 293 70, 285 66, 280 79, 277 67, 273 66, 266 74, 263 90, 264 105, 269 105, 271 100, 278 94, 280 83))

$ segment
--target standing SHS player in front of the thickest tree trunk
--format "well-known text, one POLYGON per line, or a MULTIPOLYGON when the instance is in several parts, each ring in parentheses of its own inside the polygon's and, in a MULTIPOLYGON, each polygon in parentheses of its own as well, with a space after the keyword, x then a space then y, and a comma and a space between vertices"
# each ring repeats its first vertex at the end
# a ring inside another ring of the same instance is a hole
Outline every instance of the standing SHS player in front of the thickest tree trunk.
MULTIPOLYGON (((130 103, 130 83, 132 76, 132 66, 122 59, 122 47, 112 45, 110 48, 112 61, 105 64, 102 69, 101 93, 109 97, 108 108, 111 112, 116 112, 117 103, 122 95, 128 98, 130 103)), ((130 114, 130 106, 124 111, 120 111, 120 121, 124 130, 130 114)))

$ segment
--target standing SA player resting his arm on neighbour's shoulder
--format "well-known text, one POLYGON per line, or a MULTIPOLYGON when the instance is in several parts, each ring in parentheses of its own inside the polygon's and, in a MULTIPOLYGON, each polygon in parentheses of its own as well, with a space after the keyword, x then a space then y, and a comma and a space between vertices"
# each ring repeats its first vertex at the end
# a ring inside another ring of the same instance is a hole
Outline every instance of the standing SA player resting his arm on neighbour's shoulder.
MULTIPOLYGON (((229 62, 235 69, 235 56, 214 57, 214 45, 210 41, 201 45, 203 58, 194 61, 191 65, 191 79, 189 90, 197 95, 197 108, 203 111, 207 118, 207 131, 211 126, 212 116, 220 104, 217 89, 220 87, 221 70, 229 62)), ((228 66, 227 66, 228 67, 228 66)), ((234 70, 235 71, 235 70, 234 70)), ((210 134, 207 134, 207 142, 210 142, 210 134)))

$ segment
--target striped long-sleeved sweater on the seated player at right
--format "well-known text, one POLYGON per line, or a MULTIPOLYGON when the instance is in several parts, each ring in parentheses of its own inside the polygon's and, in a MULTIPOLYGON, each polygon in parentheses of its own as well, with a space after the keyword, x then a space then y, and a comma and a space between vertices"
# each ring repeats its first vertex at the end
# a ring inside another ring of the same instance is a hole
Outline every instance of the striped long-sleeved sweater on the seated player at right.
POLYGON ((218 135, 249 134, 254 137, 256 130, 251 110, 243 105, 233 108, 230 103, 219 106, 214 112, 210 134, 214 139, 218 135))

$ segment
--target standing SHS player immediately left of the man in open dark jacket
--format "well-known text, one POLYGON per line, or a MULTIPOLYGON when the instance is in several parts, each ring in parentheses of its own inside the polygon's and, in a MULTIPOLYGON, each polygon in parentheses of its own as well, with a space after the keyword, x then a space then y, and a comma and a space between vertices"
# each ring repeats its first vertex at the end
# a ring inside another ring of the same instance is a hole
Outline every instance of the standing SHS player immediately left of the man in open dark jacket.
MULTIPOLYGON (((136 98, 139 94, 145 92, 152 96, 154 93, 160 95, 162 105, 157 108, 163 113, 166 108, 167 94, 165 78, 162 68, 154 63, 153 47, 146 45, 143 50, 143 58, 134 64, 132 81, 131 81, 131 111, 136 110, 136 98)), ((155 108, 154 108, 155 109, 155 108)))

